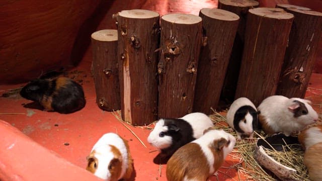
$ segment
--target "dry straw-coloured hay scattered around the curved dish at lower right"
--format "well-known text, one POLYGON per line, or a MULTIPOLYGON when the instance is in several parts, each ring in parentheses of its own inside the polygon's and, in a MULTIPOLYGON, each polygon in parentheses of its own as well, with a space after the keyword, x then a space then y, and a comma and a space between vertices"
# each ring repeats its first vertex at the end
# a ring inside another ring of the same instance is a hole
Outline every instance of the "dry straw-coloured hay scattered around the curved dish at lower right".
MULTIPOLYGON (((214 110, 213 112, 214 113, 209 117, 213 121, 215 128, 223 129, 224 131, 231 133, 236 137, 235 132, 229 132, 230 128, 225 122, 225 117, 214 110)), ((223 114, 225 114, 225 112, 223 112, 223 114)), ((319 119, 320 118, 321 115, 319 115, 319 119)), ((254 137, 265 138, 265 134, 264 132, 261 132, 257 135, 254 135, 254 137)), ((256 142, 251 142, 248 140, 237 141, 235 148, 236 149, 234 149, 232 152, 234 154, 233 156, 237 159, 239 157, 241 161, 235 165, 232 165, 231 168, 236 169, 238 174, 239 172, 243 173, 246 178, 251 180, 279 180, 274 174, 270 174, 267 169, 263 168, 256 161, 254 156, 256 142)), ((296 169, 296 174, 292 175, 292 178, 294 180, 309 180, 307 169, 303 163, 304 151, 300 146, 293 147, 287 145, 284 147, 282 152, 272 151, 268 149, 265 149, 265 151, 281 164, 296 169), (286 148, 289 150, 287 151, 286 148)))

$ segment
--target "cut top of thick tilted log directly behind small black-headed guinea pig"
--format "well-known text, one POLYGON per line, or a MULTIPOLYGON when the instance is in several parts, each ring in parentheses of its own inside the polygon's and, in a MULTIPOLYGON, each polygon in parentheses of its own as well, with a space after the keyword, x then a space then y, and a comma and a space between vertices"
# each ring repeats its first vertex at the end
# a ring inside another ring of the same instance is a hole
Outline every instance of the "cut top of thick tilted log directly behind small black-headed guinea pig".
POLYGON ((262 17, 267 17, 272 19, 294 18, 294 15, 287 13, 286 11, 280 8, 255 8, 255 9, 249 10, 249 12, 257 16, 262 16, 262 17))

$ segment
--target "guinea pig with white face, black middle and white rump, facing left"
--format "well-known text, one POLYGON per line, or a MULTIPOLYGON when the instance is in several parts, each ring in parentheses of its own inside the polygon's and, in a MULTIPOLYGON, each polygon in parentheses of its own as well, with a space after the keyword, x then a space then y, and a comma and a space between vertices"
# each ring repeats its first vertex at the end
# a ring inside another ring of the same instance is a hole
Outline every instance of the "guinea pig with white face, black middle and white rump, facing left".
POLYGON ((210 127, 213 123, 203 113, 190 113, 178 119, 159 119, 147 141, 164 157, 169 157, 181 146, 202 136, 210 127))

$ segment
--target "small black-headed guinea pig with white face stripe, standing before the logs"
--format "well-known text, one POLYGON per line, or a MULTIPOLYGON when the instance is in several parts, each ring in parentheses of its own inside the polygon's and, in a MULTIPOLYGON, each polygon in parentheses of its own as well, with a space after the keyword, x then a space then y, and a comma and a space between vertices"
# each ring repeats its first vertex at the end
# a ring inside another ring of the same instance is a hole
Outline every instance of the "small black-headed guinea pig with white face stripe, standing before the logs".
POLYGON ((237 140, 241 137, 253 138, 257 127, 257 110, 255 105, 247 98, 238 98, 230 106, 226 122, 237 133, 237 140))

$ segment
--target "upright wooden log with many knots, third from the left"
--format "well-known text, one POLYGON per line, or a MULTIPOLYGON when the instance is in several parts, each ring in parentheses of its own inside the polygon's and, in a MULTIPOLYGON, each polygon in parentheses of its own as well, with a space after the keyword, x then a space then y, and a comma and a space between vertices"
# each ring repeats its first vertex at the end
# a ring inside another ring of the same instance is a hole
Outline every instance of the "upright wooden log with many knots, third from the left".
POLYGON ((161 18, 158 63, 158 116, 178 118, 192 112, 201 48, 202 19, 190 14, 161 18))

